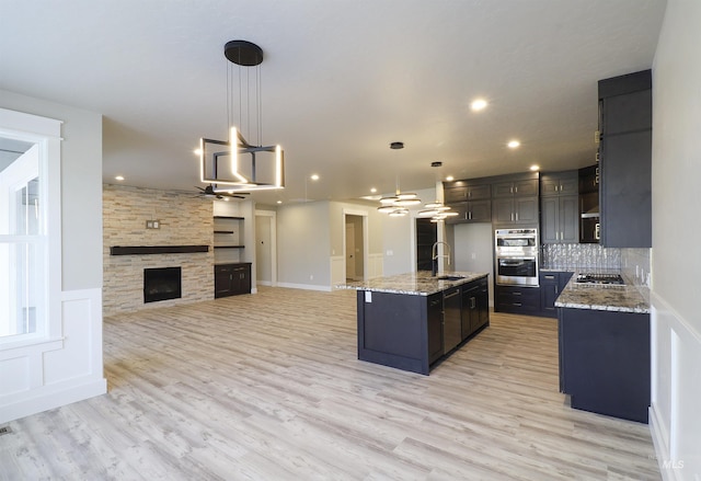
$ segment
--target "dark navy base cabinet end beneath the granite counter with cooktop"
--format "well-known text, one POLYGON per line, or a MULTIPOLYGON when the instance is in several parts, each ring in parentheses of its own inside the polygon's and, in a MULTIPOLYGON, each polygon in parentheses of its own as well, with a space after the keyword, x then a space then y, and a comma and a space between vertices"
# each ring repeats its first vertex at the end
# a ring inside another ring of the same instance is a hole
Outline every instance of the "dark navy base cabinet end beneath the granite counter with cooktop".
POLYGON ((559 339, 572 408, 647 423, 650 314, 561 308, 559 339))

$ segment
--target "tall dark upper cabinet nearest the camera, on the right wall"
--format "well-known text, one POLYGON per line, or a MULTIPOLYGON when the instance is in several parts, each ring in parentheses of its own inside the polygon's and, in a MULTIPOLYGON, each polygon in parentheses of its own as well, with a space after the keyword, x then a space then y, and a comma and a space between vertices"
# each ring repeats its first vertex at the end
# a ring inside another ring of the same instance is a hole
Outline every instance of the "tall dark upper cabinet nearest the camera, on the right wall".
POLYGON ((600 243, 652 247, 652 73, 599 81, 600 243))

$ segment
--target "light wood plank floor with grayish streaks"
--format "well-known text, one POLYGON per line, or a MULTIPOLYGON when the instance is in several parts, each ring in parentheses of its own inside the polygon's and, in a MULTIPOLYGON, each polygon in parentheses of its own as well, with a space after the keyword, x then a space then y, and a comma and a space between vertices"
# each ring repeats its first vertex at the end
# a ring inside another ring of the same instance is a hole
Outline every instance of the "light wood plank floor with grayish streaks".
POLYGON ((491 319, 426 377, 357 360, 354 291, 115 316, 108 393, 10 423, 0 479, 660 479, 646 425, 558 392, 555 320, 491 319))

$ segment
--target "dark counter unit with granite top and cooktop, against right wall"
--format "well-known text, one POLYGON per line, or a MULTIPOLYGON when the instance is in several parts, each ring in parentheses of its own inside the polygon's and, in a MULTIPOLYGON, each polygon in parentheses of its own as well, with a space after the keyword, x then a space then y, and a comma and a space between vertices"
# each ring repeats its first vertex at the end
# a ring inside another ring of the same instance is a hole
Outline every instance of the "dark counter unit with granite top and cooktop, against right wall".
POLYGON ((559 308, 560 390, 572 408, 647 422, 650 301, 646 287, 578 284, 559 308))

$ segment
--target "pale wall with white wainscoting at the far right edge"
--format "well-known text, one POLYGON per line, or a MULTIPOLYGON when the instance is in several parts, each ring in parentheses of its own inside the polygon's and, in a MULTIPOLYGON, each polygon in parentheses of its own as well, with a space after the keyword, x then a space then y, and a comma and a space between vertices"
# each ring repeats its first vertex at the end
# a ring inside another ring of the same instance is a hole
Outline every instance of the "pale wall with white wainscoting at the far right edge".
POLYGON ((701 479, 699 25, 701 2, 669 0, 653 65, 651 427, 663 474, 678 480, 701 479))

